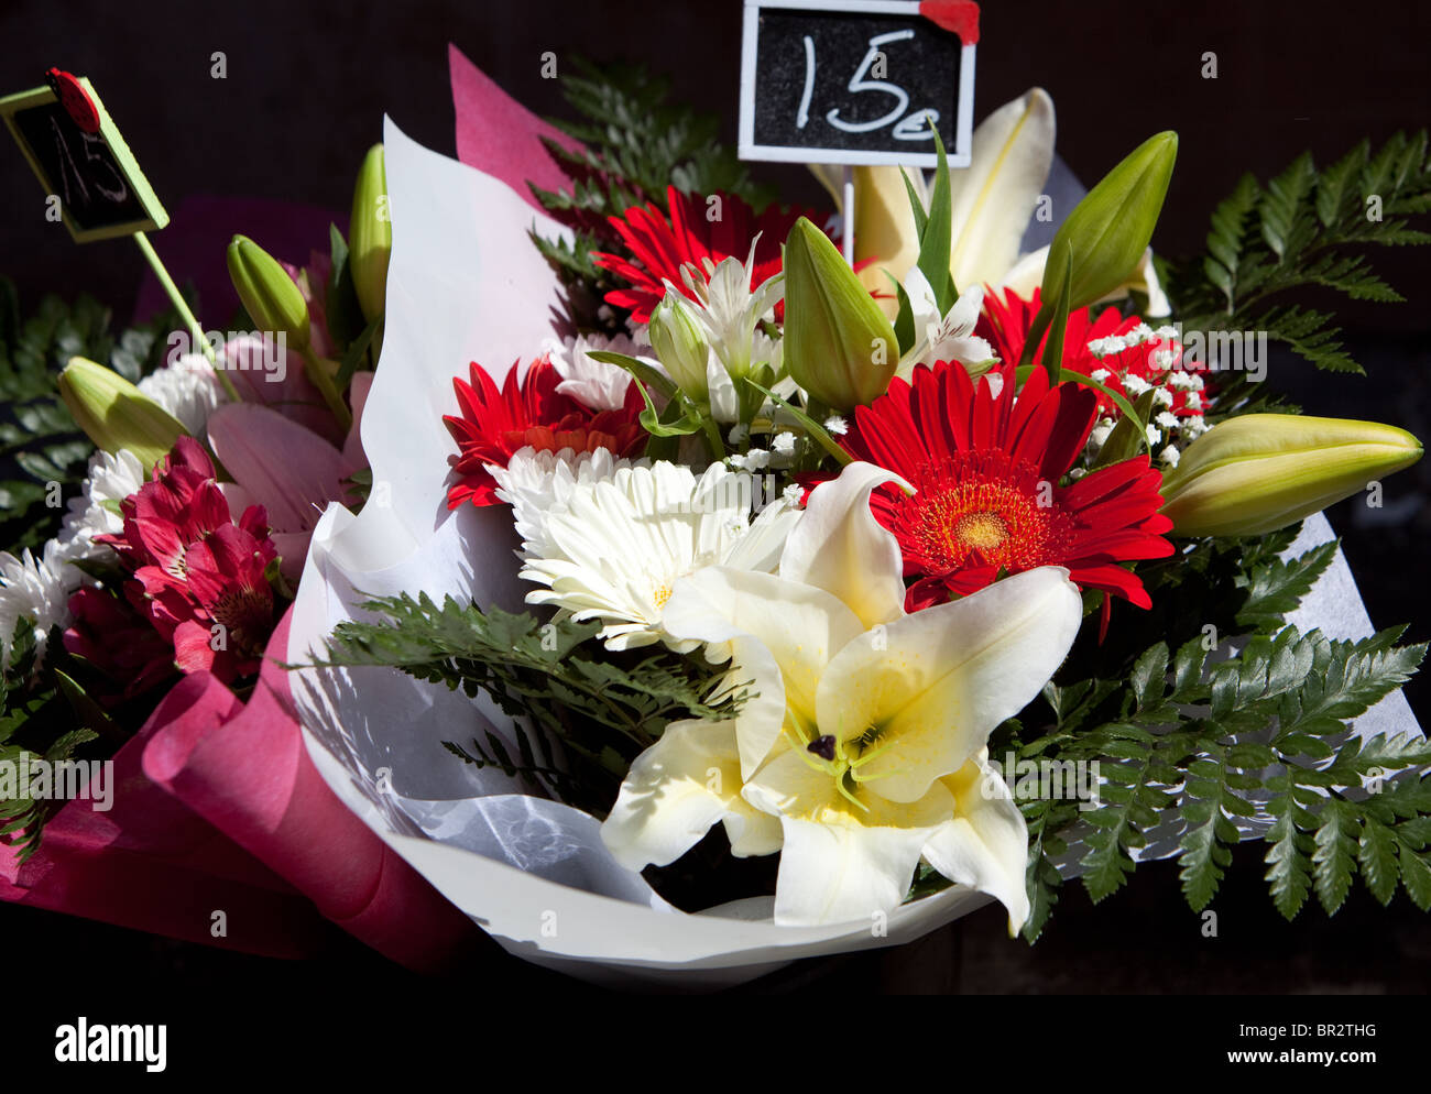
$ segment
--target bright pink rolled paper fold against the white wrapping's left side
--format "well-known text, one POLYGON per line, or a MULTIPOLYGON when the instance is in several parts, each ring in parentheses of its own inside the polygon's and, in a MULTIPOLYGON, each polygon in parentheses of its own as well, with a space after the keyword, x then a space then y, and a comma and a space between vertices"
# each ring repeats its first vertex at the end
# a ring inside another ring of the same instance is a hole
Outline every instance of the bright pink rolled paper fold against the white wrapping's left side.
MULTIPOLYGON (((268 656, 288 649, 288 618, 268 656)), ((418 971, 474 952, 472 922, 338 801, 313 768, 293 716, 288 674, 263 665, 230 721, 159 726, 145 774, 308 895, 373 950, 418 971)))

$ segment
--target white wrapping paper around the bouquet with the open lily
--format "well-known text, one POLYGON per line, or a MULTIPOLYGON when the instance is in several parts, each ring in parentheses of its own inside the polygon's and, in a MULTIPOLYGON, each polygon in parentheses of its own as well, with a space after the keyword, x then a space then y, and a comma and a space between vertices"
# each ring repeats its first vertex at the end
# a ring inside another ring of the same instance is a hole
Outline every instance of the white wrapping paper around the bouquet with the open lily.
MULTIPOLYGON (((446 511, 446 456, 456 449, 441 418, 454 413, 451 380, 469 360, 501 380, 552 333, 557 282, 527 230, 564 229, 391 120, 385 143, 394 249, 382 365, 362 425, 373 493, 356 518, 331 506, 313 532, 292 662, 322 656, 326 635, 371 595, 521 603, 507 509, 446 511)), ((1308 535, 1327 532, 1308 522, 1308 535)), ((1339 555, 1295 622, 1369 632, 1339 555)), ((688 915, 607 854, 594 818, 442 748, 484 729, 509 736, 491 702, 386 669, 305 669, 293 696, 313 762, 359 818, 509 952, 587 980, 737 984, 801 957, 910 941, 990 902, 952 888, 887 922, 819 928, 776 927, 768 898, 688 915)), ((1415 719, 1397 694, 1362 724, 1404 729, 1415 719)))

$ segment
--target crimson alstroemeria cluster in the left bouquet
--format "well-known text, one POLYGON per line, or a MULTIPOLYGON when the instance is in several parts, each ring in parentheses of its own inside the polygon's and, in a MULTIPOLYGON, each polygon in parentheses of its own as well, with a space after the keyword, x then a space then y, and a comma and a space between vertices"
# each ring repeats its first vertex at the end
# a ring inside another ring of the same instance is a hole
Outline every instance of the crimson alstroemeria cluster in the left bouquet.
POLYGON ((99 542, 133 573, 124 595, 173 645, 173 664, 225 684, 258 672, 278 622, 265 576, 278 551, 263 506, 235 522, 207 453, 185 436, 120 508, 124 531, 99 542))

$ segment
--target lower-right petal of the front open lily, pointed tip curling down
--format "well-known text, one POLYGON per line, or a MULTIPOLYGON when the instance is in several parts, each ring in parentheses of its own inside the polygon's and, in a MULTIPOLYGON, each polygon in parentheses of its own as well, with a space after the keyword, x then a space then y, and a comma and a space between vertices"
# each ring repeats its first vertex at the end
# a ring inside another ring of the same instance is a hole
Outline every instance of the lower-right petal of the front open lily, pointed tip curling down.
POLYGON ((954 817, 924 844, 924 861, 959 885, 987 892, 1009 910, 1012 938, 1029 918, 1025 868, 1029 827, 1009 785, 980 751, 943 785, 954 795, 954 817))

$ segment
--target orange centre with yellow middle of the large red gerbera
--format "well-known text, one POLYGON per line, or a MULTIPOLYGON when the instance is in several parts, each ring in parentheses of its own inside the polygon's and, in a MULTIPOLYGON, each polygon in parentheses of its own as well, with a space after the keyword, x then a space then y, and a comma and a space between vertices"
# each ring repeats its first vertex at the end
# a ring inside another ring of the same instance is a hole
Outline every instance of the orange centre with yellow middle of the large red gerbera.
POLYGON ((1032 463, 1003 453, 959 453, 927 465, 916 476, 896 522, 926 572, 946 572, 972 561, 1016 573, 1060 556, 1075 531, 1053 498, 1053 483, 1032 463))

